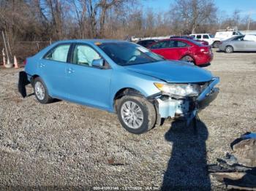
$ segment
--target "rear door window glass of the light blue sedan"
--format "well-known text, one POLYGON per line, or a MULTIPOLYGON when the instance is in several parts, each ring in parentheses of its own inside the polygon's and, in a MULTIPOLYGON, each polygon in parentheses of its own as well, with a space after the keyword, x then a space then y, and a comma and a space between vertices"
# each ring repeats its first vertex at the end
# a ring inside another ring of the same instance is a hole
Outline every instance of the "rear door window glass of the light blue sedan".
POLYGON ((69 53, 70 44, 62 44, 55 47, 53 50, 45 55, 45 59, 52 61, 67 62, 67 55, 69 53))

